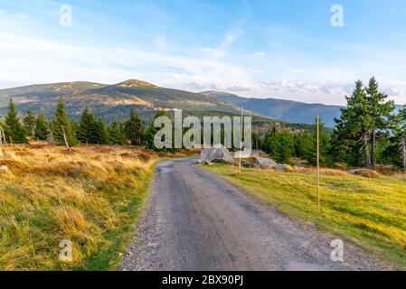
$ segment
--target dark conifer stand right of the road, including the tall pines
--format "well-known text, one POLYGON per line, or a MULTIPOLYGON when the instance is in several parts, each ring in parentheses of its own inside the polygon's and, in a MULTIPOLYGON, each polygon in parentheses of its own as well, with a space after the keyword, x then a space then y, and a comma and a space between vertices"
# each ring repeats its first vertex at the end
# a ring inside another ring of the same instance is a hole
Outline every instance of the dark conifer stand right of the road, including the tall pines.
MULTIPOLYGON (((394 102, 374 78, 367 86, 356 81, 346 101, 341 116, 335 118, 333 134, 321 128, 322 165, 374 169, 377 164, 392 164, 406 172, 406 106, 395 113, 394 102)), ((260 147, 279 162, 299 157, 316 163, 316 132, 273 127, 260 137, 260 147)))

